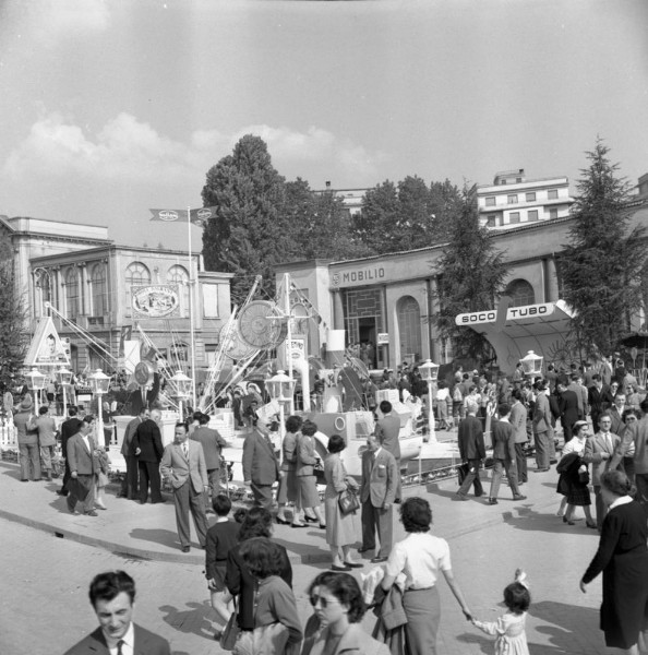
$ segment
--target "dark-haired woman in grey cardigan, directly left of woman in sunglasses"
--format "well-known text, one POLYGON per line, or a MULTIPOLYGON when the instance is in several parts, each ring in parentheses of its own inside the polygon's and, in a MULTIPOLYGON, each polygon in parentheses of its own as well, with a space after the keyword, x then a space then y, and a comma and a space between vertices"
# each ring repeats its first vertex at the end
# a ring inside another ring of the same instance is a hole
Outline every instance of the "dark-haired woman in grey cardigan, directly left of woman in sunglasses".
POLYGON ((232 650, 235 655, 297 655, 302 631, 295 594, 281 580, 283 548, 267 537, 248 539, 240 555, 254 577, 252 630, 244 630, 232 650))

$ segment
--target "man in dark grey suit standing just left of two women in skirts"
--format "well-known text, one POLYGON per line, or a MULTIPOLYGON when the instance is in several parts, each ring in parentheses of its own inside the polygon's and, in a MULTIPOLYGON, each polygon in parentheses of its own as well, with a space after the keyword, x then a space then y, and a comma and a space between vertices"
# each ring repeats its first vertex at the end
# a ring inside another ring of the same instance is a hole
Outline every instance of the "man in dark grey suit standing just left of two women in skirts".
POLYGON ((242 463, 243 481, 254 495, 254 504, 269 510, 273 485, 279 479, 279 462, 265 424, 257 421, 245 437, 242 463))

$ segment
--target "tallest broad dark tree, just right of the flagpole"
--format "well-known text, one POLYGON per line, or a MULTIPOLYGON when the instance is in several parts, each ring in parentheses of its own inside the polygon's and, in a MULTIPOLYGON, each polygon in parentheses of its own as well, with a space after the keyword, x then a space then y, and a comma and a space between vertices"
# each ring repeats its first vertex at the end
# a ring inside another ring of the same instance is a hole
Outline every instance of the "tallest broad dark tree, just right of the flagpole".
POLYGON ((207 172, 203 203, 215 206, 216 215, 203 231, 203 257, 207 270, 235 274, 235 302, 245 298, 256 275, 274 295, 273 266, 285 261, 288 238, 284 195, 284 178, 273 167, 265 142, 253 134, 241 138, 232 154, 207 172))

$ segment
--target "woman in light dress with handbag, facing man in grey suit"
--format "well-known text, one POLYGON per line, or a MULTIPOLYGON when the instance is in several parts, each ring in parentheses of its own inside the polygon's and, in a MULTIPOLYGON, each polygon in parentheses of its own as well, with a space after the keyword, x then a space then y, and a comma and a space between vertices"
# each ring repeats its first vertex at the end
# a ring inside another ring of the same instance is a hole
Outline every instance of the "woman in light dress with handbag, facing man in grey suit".
POLYGON ((360 507, 357 496, 358 483, 347 475, 339 456, 345 448, 345 440, 339 434, 333 434, 328 440, 328 455, 324 462, 326 543, 331 548, 333 571, 350 571, 362 567, 361 563, 352 561, 350 552, 351 544, 356 543, 356 535, 360 533, 358 514, 356 511, 343 512, 340 508, 340 497, 344 504, 344 497, 349 492, 356 493, 357 508, 360 507))

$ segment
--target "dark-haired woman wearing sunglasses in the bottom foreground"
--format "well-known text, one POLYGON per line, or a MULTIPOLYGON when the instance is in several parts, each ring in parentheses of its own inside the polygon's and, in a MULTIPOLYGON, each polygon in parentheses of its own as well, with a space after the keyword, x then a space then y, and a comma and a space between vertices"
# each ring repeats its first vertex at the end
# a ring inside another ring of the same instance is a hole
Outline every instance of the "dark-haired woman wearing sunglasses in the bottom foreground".
POLYGON ((309 597, 322 628, 307 636, 301 655, 389 655, 386 644, 360 627, 367 606, 352 575, 320 574, 311 583, 309 597))

